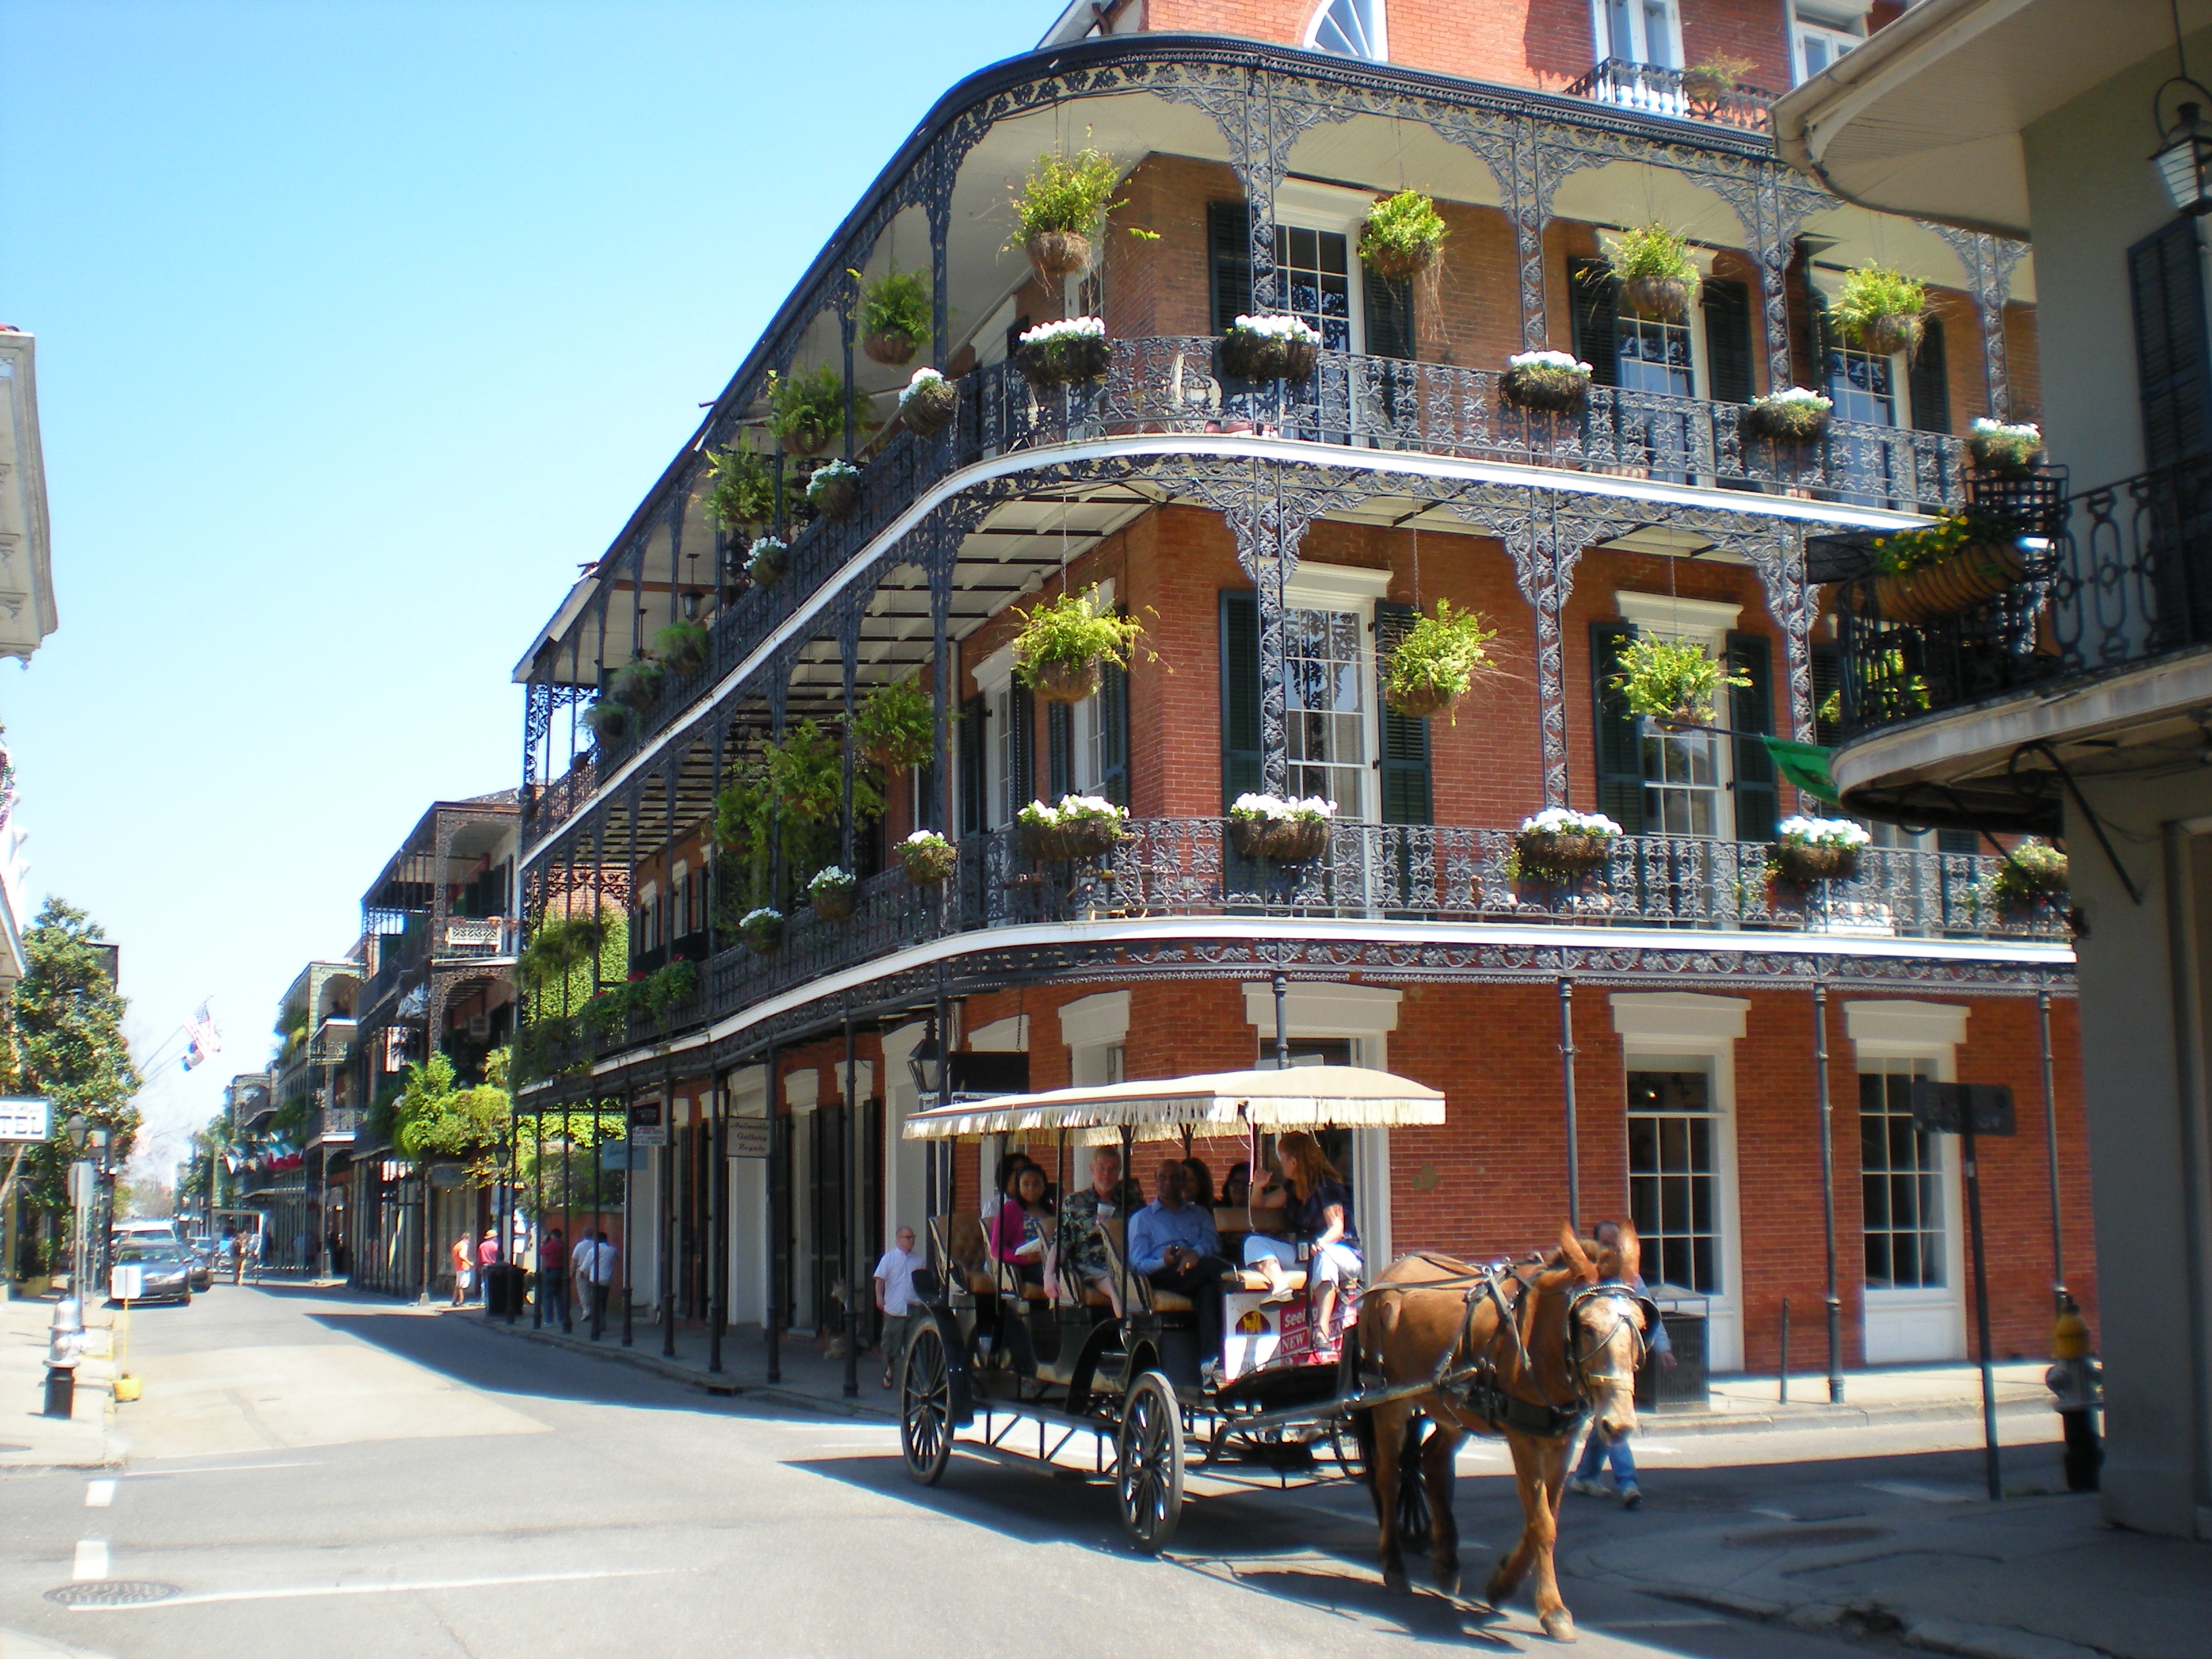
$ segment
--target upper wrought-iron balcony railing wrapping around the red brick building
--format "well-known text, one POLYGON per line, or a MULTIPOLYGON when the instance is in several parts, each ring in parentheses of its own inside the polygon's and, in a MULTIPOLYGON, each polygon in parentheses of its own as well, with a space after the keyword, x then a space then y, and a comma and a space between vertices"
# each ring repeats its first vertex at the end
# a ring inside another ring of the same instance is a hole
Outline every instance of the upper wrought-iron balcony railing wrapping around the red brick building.
POLYGON ((796 533, 783 580, 745 586, 721 608, 697 670, 670 675, 624 737, 602 739, 524 803, 524 841, 584 805, 599 779, 650 745, 922 491, 1004 453, 1099 438, 1243 434, 1902 511, 1933 513, 1964 498, 1962 445, 1947 434, 1834 420, 1818 445, 1798 449, 1747 436, 1745 405, 1624 387, 1590 387, 1579 416, 1531 414, 1504 398, 1502 369, 1352 352, 1323 352, 1296 385, 1250 383, 1221 374, 1217 345, 1210 334, 1115 341, 1102 380, 1053 392, 1033 389, 1011 363, 962 376, 953 425, 931 438, 898 431, 865 458, 852 518, 796 533))

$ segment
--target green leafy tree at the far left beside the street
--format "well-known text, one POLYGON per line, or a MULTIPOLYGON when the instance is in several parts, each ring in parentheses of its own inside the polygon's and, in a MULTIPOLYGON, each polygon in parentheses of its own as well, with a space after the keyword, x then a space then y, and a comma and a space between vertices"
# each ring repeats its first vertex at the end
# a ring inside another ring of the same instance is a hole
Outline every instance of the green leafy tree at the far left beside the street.
POLYGON ((115 1164, 131 1157, 139 1128, 133 1104, 139 1075, 124 1042, 128 1004, 93 949, 104 938, 91 916, 60 898, 49 898, 22 936, 27 969, 13 1004, 15 1086, 51 1102, 53 1137, 31 1150, 18 1179, 44 1210, 69 1208, 71 1115, 113 1135, 115 1164))

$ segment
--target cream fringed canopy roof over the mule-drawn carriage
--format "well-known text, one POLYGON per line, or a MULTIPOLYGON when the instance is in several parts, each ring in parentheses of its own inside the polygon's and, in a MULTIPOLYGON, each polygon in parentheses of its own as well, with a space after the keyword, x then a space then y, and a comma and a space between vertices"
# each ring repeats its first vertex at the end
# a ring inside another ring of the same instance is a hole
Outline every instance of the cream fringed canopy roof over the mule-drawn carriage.
POLYGON ((1396 1128, 1442 1124, 1442 1091, 1367 1066, 1292 1066, 1287 1071, 1214 1071, 1197 1077, 1150 1077, 1040 1095, 953 1102, 907 1119, 909 1141, 967 1135, 1068 1130, 1079 1141, 1164 1141, 1194 1133, 1248 1128, 1396 1128))

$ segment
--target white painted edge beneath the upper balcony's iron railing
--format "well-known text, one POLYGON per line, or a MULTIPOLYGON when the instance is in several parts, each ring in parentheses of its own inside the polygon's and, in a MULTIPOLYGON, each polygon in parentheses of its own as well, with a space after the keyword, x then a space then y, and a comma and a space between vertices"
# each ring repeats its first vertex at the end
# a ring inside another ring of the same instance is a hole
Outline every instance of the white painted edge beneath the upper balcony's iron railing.
MULTIPOLYGON (((1137 438, 1093 438, 1088 442, 1073 445, 1051 445, 1044 449, 1018 449, 1013 453, 993 456, 991 460, 980 460, 973 467, 947 473, 925 491, 905 513, 883 526, 876 540, 858 549, 843 568, 823 582, 814 593, 810 593, 781 626, 768 633, 761 644, 757 644, 743 661, 739 661, 728 675, 723 675, 714 686, 699 692, 692 703, 695 712, 703 712, 721 697, 728 697, 739 686, 743 686, 754 672, 761 670, 779 650, 783 650, 794 639, 812 639, 821 633, 823 613, 838 599, 847 584, 852 584, 869 564, 880 557, 883 549, 902 535, 914 533, 938 507, 942 507, 953 495, 973 489, 980 482, 995 478, 1011 478, 1013 473, 1031 471, 1037 467, 1060 467, 1071 460, 1110 460, 1128 458, 1139 460, 1146 456, 1212 456, 1223 460, 1272 460, 1296 467, 1332 467, 1338 471, 1365 471, 1385 473, 1400 478, 1442 478, 1471 484, 1504 484, 1511 489, 1551 489, 1566 491, 1573 495, 1604 495, 1608 500, 1626 502, 1648 502, 1655 507, 1694 507, 1694 509, 1719 509, 1728 513, 1745 513, 1750 518, 1774 518, 1792 524, 1825 524, 1834 529, 1867 529, 1867 531, 1902 531, 1927 520, 1920 513, 1891 513, 1871 507, 1843 507, 1840 502, 1812 502, 1796 500, 1792 495, 1765 495, 1739 489, 1719 489, 1705 484, 1670 484, 1652 478, 1615 478, 1610 473, 1586 473, 1586 471, 1559 471, 1553 467, 1520 467, 1493 460, 1458 460, 1451 456, 1420 456, 1405 449, 1352 449, 1343 445, 1318 445, 1301 442, 1290 438, 1256 438, 1245 434, 1159 434, 1159 436, 1137 436, 1137 438)), ((697 719, 690 714, 688 719, 697 719)), ((686 728, 686 721, 670 721, 664 730, 666 741, 655 741, 615 768, 597 790, 593 790, 593 801, 617 792, 633 776, 653 770, 659 763, 661 750, 670 741, 677 741, 686 728)), ((520 867, 533 865, 544 856, 546 847, 560 836, 568 834, 575 823, 593 810, 593 803, 580 805, 566 818, 562 818, 553 830, 538 838, 538 845, 522 854, 520 867)))

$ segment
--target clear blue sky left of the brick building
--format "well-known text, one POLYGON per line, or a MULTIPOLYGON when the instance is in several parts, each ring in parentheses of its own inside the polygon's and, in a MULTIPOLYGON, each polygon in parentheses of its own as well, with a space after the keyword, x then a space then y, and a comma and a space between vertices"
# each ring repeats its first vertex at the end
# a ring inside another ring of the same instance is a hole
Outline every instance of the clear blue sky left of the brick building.
POLYGON ((9 0, 0 321, 62 630, 0 668, 31 894, 122 942, 157 1148, 270 1051, 515 657, 929 104, 1060 0, 9 0))

